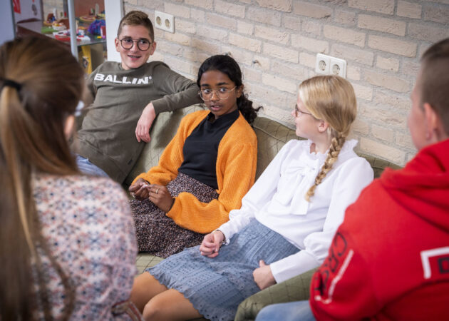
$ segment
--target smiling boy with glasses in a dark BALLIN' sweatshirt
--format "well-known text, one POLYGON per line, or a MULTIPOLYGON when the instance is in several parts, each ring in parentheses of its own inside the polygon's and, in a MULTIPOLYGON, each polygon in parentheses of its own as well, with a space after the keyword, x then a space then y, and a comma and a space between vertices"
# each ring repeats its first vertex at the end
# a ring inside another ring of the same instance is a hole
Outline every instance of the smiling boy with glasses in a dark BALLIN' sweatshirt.
POLYGON ((164 111, 200 103, 196 83, 160 61, 153 24, 142 11, 120 21, 115 49, 121 62, 106 61, 88 78, 93 103, 78 131, 77 163, 83 173, 122 183, 150 141, 150 126, 164 111))

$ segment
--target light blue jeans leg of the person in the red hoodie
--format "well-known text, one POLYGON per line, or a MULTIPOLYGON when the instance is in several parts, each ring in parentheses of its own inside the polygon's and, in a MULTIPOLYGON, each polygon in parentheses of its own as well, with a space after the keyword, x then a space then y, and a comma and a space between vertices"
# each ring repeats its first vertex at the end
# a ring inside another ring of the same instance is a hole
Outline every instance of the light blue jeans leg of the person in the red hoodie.
POLYGON ((267 305, 257 314, 256 321, 314 321, 309 300, 267 305))

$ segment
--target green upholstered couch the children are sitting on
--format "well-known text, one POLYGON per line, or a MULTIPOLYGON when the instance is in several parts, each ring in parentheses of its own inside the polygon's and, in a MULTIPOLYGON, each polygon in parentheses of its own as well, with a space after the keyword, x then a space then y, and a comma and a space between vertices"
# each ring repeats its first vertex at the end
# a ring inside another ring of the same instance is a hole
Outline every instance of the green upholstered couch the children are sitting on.
MULTIPOLYGON (((177 131, 177 127, 183 116, 193 111, 204 109, 204 104, 197 104, 178 111, 170 113, 161 113, 156 118, 150 131, 151 141, 143 149, 142 155, 135 164, 133 170, 127 178, 124 185, 129 186, 133 179, 140 173, 147 172, 150 168, 158 165, 160 155, 164 151, 167 143, 170 142, 177 131)), ((254 131, 257 135, 257 172, 256 178, 267 168, 274 156, 279 152, 282 146, 291 139, 298 139, 294 129, 273 121, 265 117, 257 117, 253 123, 254 131)), ((373 156, 361 155, 368 160, 374 170, 375 177, 378 177, 384 168, 398 168, 397 165, 382 161, 373 156)), ((296 300, 306 300, 309 298, 309 283, 313 271, 306 272, 303 275, 293 277, 290 280, 273 285, 252 297, 244 300, 239 306, 236 320, 254 320, 257 312, 262 307, 275 302, 291 302, 296 300)), ((204 320, 204 319, 202 319, 204 320)))

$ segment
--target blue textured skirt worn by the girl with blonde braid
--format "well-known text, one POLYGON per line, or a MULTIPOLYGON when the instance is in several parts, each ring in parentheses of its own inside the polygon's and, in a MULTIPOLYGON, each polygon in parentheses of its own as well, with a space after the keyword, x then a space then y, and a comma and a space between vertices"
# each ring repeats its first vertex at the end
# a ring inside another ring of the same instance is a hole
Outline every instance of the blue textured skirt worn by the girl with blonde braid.
POLYGON ((239 303, 259 292, 252 272, 259 260, 270 264, 299 251, 282 235, 253 219, 216 258, 199 246, 147 269, 161 284, 181 292, 209 320, 234 320, 239 303))

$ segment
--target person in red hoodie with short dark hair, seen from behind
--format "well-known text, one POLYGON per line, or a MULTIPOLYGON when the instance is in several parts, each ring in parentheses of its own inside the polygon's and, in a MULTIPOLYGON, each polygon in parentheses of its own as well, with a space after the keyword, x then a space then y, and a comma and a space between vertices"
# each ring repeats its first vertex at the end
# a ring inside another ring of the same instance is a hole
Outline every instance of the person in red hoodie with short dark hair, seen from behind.
POLYGON ((449 39, 423 54, 411 101, 416 157, 347 208, 309 302, 265 307, 257 321, 449 319, 449 39))

